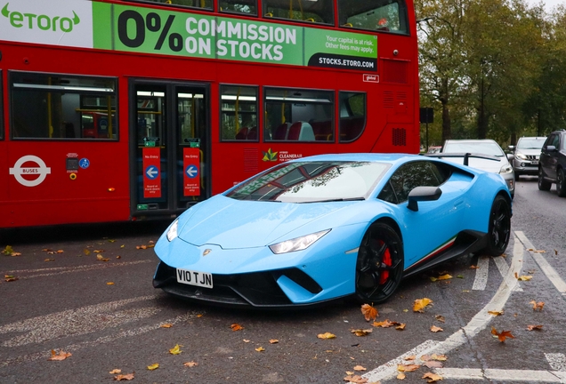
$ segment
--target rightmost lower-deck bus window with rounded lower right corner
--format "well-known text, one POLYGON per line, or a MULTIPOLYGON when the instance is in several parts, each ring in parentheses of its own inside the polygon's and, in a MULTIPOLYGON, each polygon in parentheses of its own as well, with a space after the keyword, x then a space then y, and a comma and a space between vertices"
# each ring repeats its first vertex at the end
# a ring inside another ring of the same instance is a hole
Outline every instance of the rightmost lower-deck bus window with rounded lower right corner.
POLYGON ((340 92, 340 142, 356 140, 366 126, 366 94, 340 92))

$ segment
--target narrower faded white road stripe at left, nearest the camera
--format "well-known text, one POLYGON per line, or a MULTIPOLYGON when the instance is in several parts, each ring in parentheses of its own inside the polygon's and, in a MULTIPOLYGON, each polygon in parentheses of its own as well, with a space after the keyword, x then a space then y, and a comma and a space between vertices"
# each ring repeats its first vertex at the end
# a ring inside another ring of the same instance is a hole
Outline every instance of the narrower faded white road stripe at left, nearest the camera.
MULTIPOLYGON (((202 311, 200 311, 200 313, 202 313, 202 311)), ((75 352, 82 348, 96 347, 99 344, 106 344, 112 341, 123 339, 125 337, 137 336, 137 335, 141 335, 142 333, 155 331, 159 329, 163 324, 181 323, 196 316, 197 316, 197 312, 176 316, 174 318, 159 322, 157 324, 145 325, 133 330, 117 332, 113 335, 103 336, 93 341, 83 341, 77 344, 69 344, 68 346, 61 347, 61 350, 64 350, 65 352, 75 352)), ((0 362, 0 367, 13 365, 13 364, 28 363, 38 359, 47 359, 49 356, 51 356, 51 349, 45 350, 43 352, 36 352, 29 355, 9 358, 8 360, 4 360, 3 362, 0 362)))

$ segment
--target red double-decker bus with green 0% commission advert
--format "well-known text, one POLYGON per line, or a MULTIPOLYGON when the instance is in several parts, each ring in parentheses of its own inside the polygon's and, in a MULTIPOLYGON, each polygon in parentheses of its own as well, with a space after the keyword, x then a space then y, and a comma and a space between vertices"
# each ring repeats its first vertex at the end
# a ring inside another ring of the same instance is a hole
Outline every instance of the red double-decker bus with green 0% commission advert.
POLYGON ((279 162, 420 147, 411 0, 11 0, 0 228, 173 217, 279 162))

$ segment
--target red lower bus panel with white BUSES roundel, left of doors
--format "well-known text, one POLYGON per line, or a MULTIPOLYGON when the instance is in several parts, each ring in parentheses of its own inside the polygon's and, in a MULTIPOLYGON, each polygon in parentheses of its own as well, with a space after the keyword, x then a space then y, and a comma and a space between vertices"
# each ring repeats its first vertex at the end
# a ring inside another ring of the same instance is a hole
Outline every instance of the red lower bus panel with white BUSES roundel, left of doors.
POLYGON ((2 199, 8 214, 0 215, 1 228, 129 220, 127 147, 122 142, 9 144, 3 173, 11 171, 2 199))

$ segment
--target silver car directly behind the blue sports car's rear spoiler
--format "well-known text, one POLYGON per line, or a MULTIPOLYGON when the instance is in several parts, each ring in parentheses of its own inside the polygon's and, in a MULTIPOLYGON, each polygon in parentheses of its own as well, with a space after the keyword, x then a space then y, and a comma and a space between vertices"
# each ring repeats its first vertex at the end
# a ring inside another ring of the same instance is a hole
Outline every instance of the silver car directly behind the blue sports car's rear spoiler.
MULTIPOLYGON (((511 166, 507 156, 505 156, 505 152, 503 152, 503 149, 499 147, 499 144, 497 144, 495 140, 446 140, 444 141, 444 146, 441 149, 441 154, 443 153, 469 153, 496 156, 499 159, 498 162, 470 157, 468 159, 468 165, 483 171, 499 173, 503 176, 503 179, 505 179, 505 183, 507 184, 507 188, 509 188, 511 197, 513 198, 515 195, 515 172, 513 171, 513 166, 511 166)), ((462 157, 446 157, 446 160, 463 164, 464 155, 462 157)))

